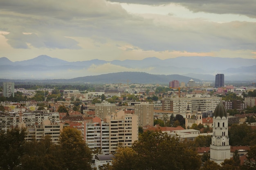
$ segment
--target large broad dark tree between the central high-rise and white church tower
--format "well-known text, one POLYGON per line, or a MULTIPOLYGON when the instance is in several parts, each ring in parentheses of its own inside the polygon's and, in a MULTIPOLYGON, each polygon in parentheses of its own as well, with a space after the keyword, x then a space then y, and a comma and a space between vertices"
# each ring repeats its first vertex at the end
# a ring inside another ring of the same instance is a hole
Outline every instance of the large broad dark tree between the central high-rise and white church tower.
POLYGON ((200 156, 186 143, 161 131, 146 131, 133 150, 139 163, 136 170, 195 170, 201 165, 200 156))

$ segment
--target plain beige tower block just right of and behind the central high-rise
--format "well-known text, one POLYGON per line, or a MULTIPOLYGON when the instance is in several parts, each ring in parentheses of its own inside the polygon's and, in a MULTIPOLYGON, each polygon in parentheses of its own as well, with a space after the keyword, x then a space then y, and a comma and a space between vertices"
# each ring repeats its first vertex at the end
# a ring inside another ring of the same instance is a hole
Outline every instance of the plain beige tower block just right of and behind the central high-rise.
POLYGON ((134 104, 134 113, 139 117, 139 126, 154 125, 154 104, 141 102, 134 104))

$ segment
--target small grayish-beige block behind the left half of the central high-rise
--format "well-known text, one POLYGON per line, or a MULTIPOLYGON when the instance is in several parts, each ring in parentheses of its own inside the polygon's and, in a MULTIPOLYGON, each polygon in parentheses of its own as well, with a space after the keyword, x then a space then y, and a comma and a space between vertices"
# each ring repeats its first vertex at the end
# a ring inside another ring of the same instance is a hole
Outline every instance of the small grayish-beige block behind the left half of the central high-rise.
POLYGON ((102 103, 95 104, 95 116, 105 119, 107 115, 111 115, 116 111, 117 106, 115 104, 103 101, 102 103))

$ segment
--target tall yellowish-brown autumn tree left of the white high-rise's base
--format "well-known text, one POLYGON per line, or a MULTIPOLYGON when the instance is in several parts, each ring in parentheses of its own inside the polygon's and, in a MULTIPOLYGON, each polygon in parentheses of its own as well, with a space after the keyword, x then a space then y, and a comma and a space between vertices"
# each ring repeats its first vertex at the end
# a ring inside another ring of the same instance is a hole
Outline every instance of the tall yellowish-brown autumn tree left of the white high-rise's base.
POLYGON ((81 132, 65 127, 60 135, 63 169, 90 170, 91 150, 82 138, 81 132))

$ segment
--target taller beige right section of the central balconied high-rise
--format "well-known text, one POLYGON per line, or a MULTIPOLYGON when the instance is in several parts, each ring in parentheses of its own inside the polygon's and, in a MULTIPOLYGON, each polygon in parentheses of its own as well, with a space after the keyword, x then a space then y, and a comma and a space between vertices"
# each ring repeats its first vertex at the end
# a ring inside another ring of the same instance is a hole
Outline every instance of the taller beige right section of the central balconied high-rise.
POLYGON ((109 123, 109 143, 110 153, 115 152, 118 144, 124 147, 132 146, 132 143, 138 140, 138 116, 124 113, 124 109, 106 116, 106 122, 109 123))

